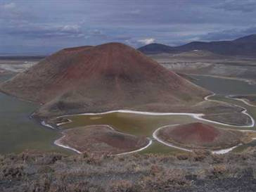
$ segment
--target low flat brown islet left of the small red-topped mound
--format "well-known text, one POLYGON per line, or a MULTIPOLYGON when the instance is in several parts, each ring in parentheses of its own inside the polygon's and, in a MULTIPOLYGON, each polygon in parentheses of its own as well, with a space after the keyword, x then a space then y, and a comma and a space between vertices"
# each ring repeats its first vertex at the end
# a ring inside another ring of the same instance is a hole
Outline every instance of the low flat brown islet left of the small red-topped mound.
POLYGON ((82 153, 118 154, 135 151, 148 144, 146 137, 117 132, 107 125, 68 129, 59 142, 82 153))

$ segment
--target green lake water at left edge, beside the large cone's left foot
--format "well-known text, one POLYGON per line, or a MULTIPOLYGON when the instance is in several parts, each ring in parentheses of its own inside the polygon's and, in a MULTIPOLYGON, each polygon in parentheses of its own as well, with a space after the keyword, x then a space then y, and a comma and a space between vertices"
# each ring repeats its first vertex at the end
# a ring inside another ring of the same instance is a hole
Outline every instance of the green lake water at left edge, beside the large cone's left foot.
MULTIPOLYGON (((6 75, 0 81, 10 77, 6 75)), ((30 119, 38 107, 35 103, 0 92, 0 154, 20 153, 27 149, 70 153, 53 144, 60 136, 57 130, 46 128, 30 119)))

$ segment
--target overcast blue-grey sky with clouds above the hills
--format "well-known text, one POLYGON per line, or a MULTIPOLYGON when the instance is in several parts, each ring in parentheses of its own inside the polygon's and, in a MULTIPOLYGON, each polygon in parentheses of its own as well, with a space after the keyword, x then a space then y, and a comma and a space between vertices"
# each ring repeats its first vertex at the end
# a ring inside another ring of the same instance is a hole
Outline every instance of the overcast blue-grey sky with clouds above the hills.
POLYGON ((0 53, 110 41, 176 46, 255 33, 256 0, 0 0, 0 53))

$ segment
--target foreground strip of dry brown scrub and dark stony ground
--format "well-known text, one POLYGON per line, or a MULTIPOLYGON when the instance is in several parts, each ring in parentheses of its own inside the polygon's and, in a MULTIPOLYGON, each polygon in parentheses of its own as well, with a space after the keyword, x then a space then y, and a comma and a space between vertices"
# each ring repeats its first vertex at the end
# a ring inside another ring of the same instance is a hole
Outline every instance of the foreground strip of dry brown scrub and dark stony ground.
POLYGON ((0 191, 255 191, 256 151, 0 156, 0 191))

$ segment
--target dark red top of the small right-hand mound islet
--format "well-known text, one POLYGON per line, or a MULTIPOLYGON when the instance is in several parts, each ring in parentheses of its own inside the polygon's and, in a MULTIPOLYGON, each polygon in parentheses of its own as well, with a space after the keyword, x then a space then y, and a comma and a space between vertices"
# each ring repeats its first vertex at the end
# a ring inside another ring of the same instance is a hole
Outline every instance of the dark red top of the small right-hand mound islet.
POLYGON ((191 123, 177 126, 172 129, 172 137, 177 141, 187 141, 194 143, 208 143, 214 141, 219 136, 219 130, 209 124, 191 123))

